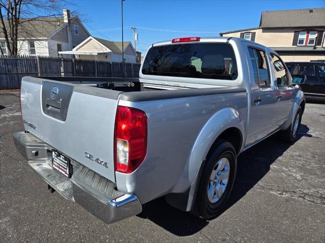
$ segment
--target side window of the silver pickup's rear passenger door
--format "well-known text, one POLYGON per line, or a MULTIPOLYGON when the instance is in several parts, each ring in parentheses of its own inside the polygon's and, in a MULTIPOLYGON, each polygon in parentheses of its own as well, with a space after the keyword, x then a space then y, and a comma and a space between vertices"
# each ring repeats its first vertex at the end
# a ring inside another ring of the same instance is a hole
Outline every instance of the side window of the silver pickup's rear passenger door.
POLYGON ((256 85, 259 87, 270 87, 270 75, 266 53, 254 48, 248 48, 248 52, 256 85))

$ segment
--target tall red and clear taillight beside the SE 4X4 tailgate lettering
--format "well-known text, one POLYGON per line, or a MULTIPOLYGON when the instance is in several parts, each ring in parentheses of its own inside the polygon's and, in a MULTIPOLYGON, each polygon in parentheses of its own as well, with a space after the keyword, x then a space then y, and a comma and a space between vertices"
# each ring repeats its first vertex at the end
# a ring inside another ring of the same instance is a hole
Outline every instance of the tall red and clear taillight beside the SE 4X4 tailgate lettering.
POLYGON ((115 171, 122 173, 135 171, 147 151, 146 113, 135 108, 118 106, 114 143, 115 171))

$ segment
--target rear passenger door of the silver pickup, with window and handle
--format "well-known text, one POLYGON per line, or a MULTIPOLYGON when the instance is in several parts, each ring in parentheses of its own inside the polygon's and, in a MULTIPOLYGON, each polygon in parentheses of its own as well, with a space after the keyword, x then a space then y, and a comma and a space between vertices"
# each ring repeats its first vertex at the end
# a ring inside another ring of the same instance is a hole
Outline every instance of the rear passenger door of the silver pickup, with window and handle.
POLYGON ((270 78, 270 67, 266 51, 247 47, 249 63, 251 101, 246 147, 276 130, 276 94, 270 78))

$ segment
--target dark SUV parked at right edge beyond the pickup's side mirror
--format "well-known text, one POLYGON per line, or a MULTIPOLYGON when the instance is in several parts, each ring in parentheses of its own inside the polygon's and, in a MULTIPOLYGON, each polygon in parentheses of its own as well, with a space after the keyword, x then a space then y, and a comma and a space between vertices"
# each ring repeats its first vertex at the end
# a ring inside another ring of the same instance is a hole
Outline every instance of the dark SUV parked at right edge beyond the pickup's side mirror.
POLYGON ((306 82, 301 86, 308 100, 325 101, 325 63, 287 62, 291 75, 305 75, 306 82))

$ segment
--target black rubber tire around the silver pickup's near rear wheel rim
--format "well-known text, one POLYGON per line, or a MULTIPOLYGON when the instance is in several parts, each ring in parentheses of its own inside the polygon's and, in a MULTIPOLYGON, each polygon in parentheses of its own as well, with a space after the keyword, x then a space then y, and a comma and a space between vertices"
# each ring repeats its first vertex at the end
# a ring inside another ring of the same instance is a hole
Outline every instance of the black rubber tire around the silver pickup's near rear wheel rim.
POLYGON ((233 185, 236 177, 236 169, 237 169, 237 157, 236 157, 236 150, 234 146, 228 141, 219 140, 213 152, 211 152, 210 155, 208 155, 206 164, 203 168, 203 172, 198 187, 198 193, 197 193, 197 197, 193 209, 193 213, 196 216, 202 219, 209 219, 218 215, 218 212, 228 200, 231 191, 233 189, 233 185), (208 199, 208 185, 210 183, 210 176, 212 170, 217 165, 218 160, 224 157, 229 160, 229 165, 230 165, 229 180, 220 199, 217 200, 215 203, 211 203, 211 201, 208 199))

